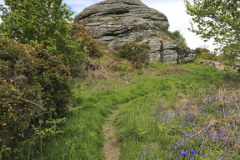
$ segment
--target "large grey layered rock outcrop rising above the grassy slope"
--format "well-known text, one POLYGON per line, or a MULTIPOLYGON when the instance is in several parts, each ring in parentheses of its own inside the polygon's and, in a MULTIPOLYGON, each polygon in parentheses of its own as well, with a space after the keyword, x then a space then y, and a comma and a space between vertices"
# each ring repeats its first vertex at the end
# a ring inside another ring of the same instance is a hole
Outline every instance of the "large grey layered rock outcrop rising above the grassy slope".
POLYGON ((108 46, 123 45, 126 41, 148 42, 151 62, 160 59, 172 64, 187 62, 191 57, 189 55, 193 54, 189 48, 179 51, 175 41, 170 37, 162 37, 166 33, 153 24, 169 27, 167 17, 140 0, 102 1, 77 14, 74 23, 83 20, 87 20, 84 27, 89 30, 89 36, 108 46))

